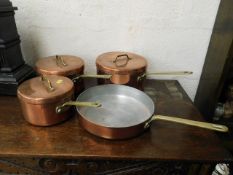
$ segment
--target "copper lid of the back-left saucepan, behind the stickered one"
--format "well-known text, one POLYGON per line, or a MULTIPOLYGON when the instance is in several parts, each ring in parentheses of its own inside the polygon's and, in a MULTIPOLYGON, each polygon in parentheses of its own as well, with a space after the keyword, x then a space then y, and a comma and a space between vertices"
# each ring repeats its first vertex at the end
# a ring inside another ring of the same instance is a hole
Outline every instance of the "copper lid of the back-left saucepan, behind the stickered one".
POLYGON ((56 55, 40 58, 36 62, 36 71, 44 75, 69 76, 82 73, 84 61, 71 55, 56 55))

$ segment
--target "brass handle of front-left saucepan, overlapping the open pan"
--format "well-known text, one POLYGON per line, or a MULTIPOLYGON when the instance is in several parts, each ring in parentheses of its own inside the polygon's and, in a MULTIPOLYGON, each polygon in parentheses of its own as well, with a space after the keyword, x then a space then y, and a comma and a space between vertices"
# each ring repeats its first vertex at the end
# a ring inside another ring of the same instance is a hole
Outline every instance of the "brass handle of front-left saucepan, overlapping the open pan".
POLYGON ((56 113, 60 114, 66 110, 67 106, 86 106, 86 107, 101 107, 99 102, 80 102, 80 101, 68 101, 60 106, 56 107, 56 113))

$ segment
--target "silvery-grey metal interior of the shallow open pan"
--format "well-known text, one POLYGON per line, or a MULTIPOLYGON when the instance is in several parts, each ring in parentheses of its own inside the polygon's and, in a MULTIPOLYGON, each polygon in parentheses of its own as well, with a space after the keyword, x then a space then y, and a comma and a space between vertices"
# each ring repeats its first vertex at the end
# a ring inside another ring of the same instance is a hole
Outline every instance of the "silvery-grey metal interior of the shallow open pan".
POLYGON ((77 101, 98 101, 99 108, 77 107, 79 114, 91 123, 108 128, 138 125, 151 118, 154 102, 141 91, 125 85, 100 85, 81 93, 77 101))

